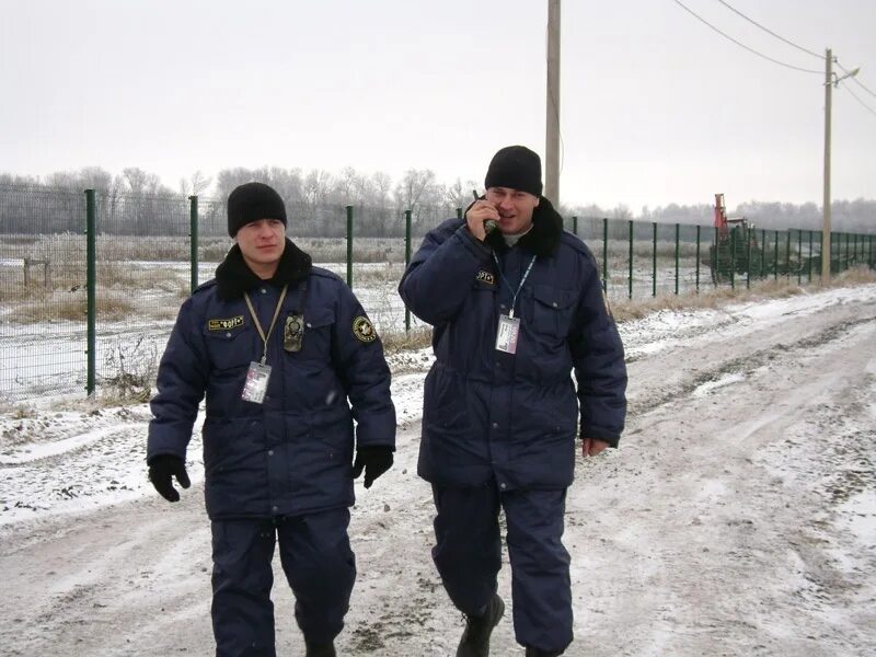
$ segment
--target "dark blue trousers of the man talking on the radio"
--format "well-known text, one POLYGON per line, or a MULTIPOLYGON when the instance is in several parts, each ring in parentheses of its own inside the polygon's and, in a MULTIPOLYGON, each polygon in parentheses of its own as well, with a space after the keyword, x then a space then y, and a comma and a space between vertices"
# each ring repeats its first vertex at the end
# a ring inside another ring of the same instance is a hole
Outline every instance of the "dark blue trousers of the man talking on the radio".
POLYGON ((481 486, 433 485, 433 560, 457 609, 481 615, 497 591, 502 508, 515 637, 523 646, 564 650, 573 636, 569 555, 562 542, 566 489, 499 492, 493 481, 481 486))

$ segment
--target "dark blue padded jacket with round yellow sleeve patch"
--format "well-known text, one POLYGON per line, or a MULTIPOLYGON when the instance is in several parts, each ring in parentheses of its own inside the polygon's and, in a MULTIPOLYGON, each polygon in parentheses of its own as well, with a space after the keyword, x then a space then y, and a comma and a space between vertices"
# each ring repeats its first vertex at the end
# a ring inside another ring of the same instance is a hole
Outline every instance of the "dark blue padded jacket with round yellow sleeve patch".
POLYGON ((183 303, 151 402, 147 460, 185 458, 206 392, 205 496, 211 519, 295 516, 354 503, 354 419, 358 446, 394 446, 390 371, 371 323, 346 284, 291 241, 273 279, 261 280, 234 245, 183 303), (264 342, 247 292, 269 334, 264 403, 241 399, 264 342), (286 319, 302 313, 301 349, 284 348, 286 319), (350 408, 351 405, 351 408, 350 408))

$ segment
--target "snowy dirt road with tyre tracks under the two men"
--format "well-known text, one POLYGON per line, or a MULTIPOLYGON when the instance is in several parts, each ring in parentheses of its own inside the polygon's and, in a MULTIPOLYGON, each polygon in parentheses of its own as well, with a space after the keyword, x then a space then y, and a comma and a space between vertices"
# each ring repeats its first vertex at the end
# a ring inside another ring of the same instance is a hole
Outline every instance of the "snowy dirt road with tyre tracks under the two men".
MULTIPOLYGON (((579 457, 568 496, 567 655, 876 654, 876 286, 664 311, 622 334, 627 430, 579 457)), ((446 657, 462 629, 415 474, 427 361, 394 379, 395 468, 357 486, 339 655, 446 657)), ((0 655, 210 655, 199 454, 170 505, 145 482, 145 407, 71 415, 0 422, 0 655)), ((275 565, 278 655, 303 655, 275 565)), ((492 654, 522 655, 507 562, 499 589, 492 654)))

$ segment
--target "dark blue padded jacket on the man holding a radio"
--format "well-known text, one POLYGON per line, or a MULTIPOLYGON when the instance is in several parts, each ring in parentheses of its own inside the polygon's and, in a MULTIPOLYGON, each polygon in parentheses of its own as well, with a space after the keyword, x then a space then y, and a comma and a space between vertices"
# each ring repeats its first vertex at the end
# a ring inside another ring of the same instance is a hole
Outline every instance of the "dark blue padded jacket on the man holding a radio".
POLYGON ((451 486, 495 477, 500 489, 565 487, 578 428, 616 447, 626 413, 623 346, 592 254, 564 232, 548 199, 510 249, 499 231, 482 243, 464 220, 445 221, 426 235, 399 291, 434 326, 420 476, 451 486), (499 315, 531 262, 514 304, 517 353, 506 354, 496 349, 499 315))

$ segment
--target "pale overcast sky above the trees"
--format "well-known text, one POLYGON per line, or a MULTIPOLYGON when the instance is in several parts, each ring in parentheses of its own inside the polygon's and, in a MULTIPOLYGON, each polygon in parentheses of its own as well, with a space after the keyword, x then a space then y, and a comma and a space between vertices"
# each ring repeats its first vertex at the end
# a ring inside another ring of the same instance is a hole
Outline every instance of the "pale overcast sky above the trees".
MULTIPOLYGON (((565 0, 561 200, 876 198, 876 1, 565 0), (842 71, 839 71, 842 74, 842 71), (851 90, 871 110, 862 106, 851 90)), ((0 0, 0 171, 412 168, 483 182, 544 155, 548 0, 0 0)))

